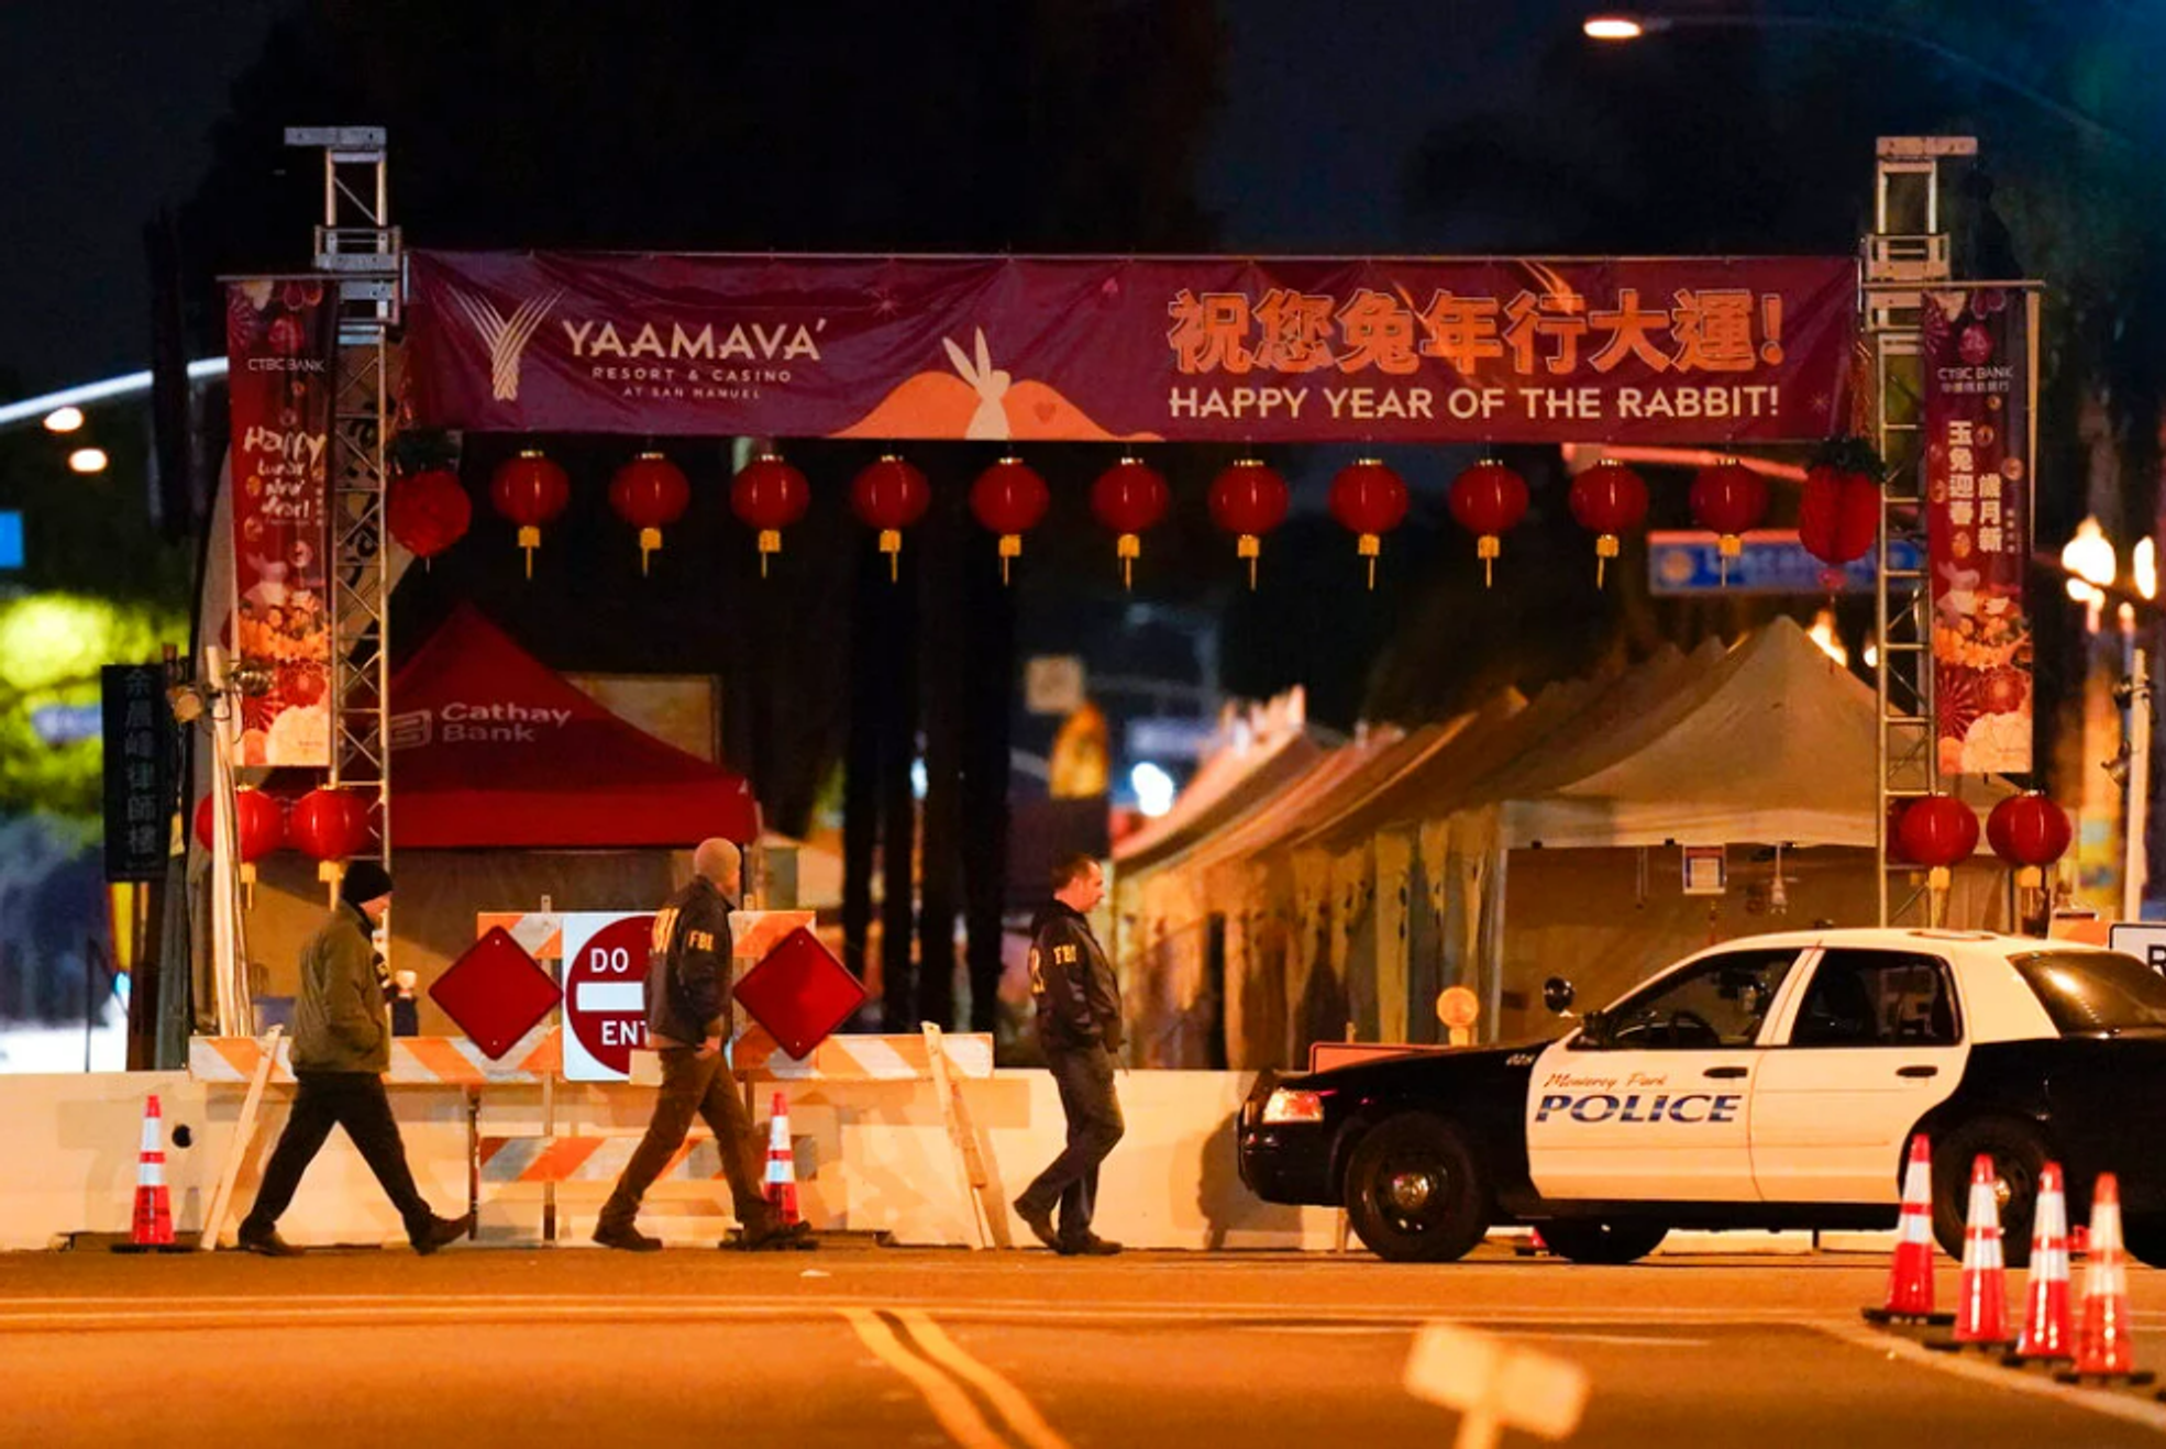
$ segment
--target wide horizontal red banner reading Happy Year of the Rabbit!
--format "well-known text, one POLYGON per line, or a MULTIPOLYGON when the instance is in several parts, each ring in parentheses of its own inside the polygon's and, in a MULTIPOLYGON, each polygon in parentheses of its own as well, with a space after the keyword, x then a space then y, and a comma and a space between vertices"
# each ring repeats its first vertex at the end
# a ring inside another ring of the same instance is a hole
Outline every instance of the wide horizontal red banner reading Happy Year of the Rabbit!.
POLYGON ((1841 431, 1848 258, 412 253, 422 427, 1016 442, 1841 431))

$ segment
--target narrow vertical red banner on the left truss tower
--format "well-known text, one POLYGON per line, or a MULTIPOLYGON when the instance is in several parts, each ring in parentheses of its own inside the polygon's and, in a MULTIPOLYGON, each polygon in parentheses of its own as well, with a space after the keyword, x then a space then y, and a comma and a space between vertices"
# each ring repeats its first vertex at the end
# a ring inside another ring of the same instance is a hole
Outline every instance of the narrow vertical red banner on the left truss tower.
POLYGON ((271 676, 269 693, 243 697, 243 765, 331 762, 334 347, 321 282, 227 284, 234 656, 271 676))

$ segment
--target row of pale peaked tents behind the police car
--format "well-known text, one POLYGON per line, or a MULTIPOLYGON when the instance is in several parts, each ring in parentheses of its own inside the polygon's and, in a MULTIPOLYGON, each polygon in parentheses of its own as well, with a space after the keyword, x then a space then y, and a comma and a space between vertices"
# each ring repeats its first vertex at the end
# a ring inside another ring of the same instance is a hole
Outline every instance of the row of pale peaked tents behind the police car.
MULTIPOLYGON (((1876 771, 1871 689, 1776 619, 1326 756, 1133 899, 1217 934, 1235 1066, 1297 1063, 1345 1029, 1436 1040, 1453 983, 1479 992, 1484 1035, 1510 1037, 1544 1024, 1547 975, 1596 1001, 1709 940, 1869 923, 1876 771), (1683 845, 1726 847, 1724 895, 1683 895, 1683 845)), ((1965 797, 1984 812, 2006 793, 1969 780, 1965 797)), ((1952 921, 2008 925, 2004 905, 1991 858, 1958 873, 1952 921)))

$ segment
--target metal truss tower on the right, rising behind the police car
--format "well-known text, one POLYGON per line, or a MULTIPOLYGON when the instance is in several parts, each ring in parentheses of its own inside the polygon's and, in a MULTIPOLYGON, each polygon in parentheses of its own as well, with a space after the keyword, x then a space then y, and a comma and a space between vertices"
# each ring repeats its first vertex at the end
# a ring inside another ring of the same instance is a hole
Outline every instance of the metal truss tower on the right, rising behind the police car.
POLYGON ((1915 866, 1893 860, 1891 812, 1941 784, 1932 702, 1932 578, 1926 561, 1921 316, 1926 286, 1952 277, 1941 230, 1941 160, 1975 156, 1971 136, 1882 136, 1876 147, 1874 230, 1865 236, 1865 344, 1871 442, 1887 466, 1874 585, 1878 695, 1880 925, 1930 925, 1915 866), (1902 544, 1921 567, 1897 567, 1902 544))

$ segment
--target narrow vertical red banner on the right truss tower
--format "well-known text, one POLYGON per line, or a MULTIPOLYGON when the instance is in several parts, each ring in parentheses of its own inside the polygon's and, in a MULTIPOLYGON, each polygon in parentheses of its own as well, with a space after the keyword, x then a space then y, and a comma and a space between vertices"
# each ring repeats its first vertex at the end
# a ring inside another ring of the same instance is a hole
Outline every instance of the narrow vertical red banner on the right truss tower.
POLYGON ((1926 554, 1943 775, 2032 769, 2025 292, 1926 299, 1926 554))

